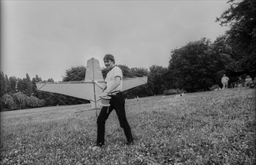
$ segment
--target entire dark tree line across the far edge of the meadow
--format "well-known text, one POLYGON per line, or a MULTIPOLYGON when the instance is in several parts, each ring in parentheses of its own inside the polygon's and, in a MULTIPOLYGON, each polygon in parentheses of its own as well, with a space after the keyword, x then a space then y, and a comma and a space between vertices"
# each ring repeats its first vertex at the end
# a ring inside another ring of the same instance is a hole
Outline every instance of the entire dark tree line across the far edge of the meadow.
MULTIPOLYGON (((146 85, 123 92, 125 97, 207 91, 216 84, 221 86, 223 74, 230 77, 230 84, 236 82, 239 76, 255 77, 256 1, 230 0, 228 3, 230 8, 225 10, 216 22, 221 26, 229 26, 230 29, 215 41, 203 37, 170 50, 169 66, 166 68, 158 65, 149 68, 118 65, 123 71, 123 77, 148 76, 146 85)), ((84 66, 69 68, 62 81, 84 80, 85 73, 84 66)), ((103 77, 107 73, 106 68, 102 68, 103 77)), ((29 74, 26 74, 26 78, 20 79, 8 77, 2 72, 1 110, 88 103, 83 99, 66 95, 40 92, 35 86, 38 82, 54 80, 41 80, 38 75, 31 80, 29 74)))

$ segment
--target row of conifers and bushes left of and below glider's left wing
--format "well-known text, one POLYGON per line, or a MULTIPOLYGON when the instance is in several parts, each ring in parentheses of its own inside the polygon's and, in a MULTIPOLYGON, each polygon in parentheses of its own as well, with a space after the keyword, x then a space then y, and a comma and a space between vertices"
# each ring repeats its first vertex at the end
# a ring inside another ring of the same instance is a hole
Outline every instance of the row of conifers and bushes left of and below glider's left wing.
POLYGON ((41 80, 38 75, 31 80, 29 74, 26 74, 26 78, 23 79, 8 78, 7 75, 1 72, 1 110, 87 103, 87 101, 78 98, 38 91, 35 84, 39 82, 54 83, 54 80, 52 78, 41 80))

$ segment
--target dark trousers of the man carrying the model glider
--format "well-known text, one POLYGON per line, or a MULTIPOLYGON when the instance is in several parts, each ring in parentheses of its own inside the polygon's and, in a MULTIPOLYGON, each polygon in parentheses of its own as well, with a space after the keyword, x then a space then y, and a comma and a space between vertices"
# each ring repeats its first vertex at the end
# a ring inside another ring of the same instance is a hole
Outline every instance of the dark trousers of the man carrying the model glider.
POLYGON ((126 113, 124 110, 125 100, 121 93, 112 95, 110 100, 110 107, 102 107, 97 118, 97 145, 104 145, 105 142, 105 121, 108 119, 108 115, 115 110, 120 123, 120 127, 123 128, 127 142, 133 142, 133 135, 131 133, 130 125, 126 119, 126 113))

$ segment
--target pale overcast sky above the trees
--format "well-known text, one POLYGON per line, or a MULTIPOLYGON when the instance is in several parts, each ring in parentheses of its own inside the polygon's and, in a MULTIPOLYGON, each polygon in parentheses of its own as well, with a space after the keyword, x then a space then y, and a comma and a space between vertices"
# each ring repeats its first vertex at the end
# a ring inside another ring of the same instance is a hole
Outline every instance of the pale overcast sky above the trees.
POLYGON ((8 77, 62 80, 66 69, 111 53, 129 68, 167 67, 170 51, 226 27, 222 0, 1 1, 1 70, 8 77))

